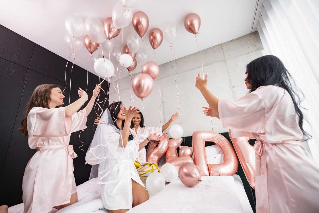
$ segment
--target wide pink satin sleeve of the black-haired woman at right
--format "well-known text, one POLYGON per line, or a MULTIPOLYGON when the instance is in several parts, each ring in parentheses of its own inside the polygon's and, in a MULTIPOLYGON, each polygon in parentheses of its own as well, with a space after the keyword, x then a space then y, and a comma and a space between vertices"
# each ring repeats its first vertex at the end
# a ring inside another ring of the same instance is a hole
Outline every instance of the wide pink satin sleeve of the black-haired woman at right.
POLYGON ((252 133, 265 131, 265 104, 257 93, 245 95, 236 103, 219 100, 218 111, 224 128, 252 133))

